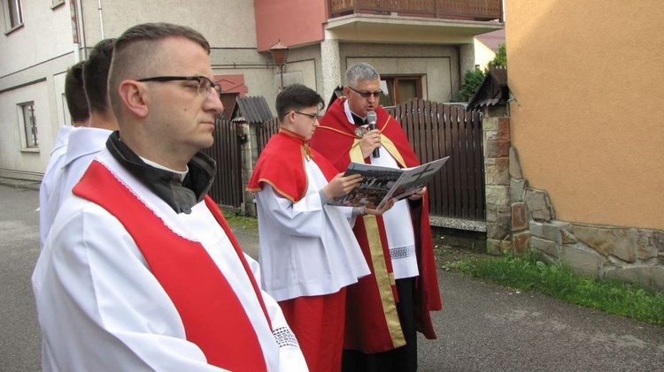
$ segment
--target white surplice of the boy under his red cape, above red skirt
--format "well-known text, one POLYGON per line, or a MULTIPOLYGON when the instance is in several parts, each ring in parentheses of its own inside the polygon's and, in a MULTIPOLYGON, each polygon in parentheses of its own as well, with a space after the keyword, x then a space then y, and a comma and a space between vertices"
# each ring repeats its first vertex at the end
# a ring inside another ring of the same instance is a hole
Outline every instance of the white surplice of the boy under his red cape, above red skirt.
POLYGON ((351 208, 323 205, 328 180, 313 160, 305 161, 308 188, 293 203, 266 182, 256 193, 259 209, 262 285, 275 300, 338 292, 369 274, 353 235, 351 208))

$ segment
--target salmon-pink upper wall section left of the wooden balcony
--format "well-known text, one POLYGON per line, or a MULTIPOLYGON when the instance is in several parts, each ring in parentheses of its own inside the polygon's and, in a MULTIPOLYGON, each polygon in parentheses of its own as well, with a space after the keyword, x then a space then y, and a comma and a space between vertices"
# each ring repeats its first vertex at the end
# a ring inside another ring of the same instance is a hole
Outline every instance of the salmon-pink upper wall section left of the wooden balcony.
POLYGON ((325 0, 254 0, 259 51, 280 39, 288 47, 322 41, 327 4, 325 0))

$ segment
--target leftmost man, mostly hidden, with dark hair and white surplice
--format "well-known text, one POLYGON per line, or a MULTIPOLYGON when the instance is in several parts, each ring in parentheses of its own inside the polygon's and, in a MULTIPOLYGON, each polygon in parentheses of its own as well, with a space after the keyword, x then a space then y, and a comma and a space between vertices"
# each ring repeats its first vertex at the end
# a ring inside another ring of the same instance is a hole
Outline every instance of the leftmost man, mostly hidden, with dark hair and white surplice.
POLYGON ((44 240, 49 233, 50 224, 47 224, 47 216, 50 215, 50 195, 52 194, 54 178, 65 163, 69 135, 73 132, 73 128, 88 125, 90 118, 88 100, 85 98, 85 89, 83 88, 84 63, 84 61, 81 61, 69 67, 66 72, 65 101, 73 126, 62 126, 58 131, 53 149, 50 151, 49 163, 46 165, 46 171, 43 174, 42 185, 39 187, 39 238, 41 247, 43 247, 44 240))

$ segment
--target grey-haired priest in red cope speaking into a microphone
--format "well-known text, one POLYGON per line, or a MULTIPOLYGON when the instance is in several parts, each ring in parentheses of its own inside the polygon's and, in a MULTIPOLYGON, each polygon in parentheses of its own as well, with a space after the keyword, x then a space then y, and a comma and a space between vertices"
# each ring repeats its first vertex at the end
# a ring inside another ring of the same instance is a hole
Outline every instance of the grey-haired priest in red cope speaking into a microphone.
MULTIPOLYGON (((338 171, 351 161, 391 168, 420 164, 401 125, 380 106, 381 94, 380 75, 371 65, 346 71, 345 96, 330 105, 311 140, 338 171), (375 129, 367 122, 372 111, 375 129)), ((344 371, 414 371, 416 330, 436 338, 429 312, 441 309, 426 188, 382 216, 359 216, 353 232, 372 275, 347 290, 344 371)))

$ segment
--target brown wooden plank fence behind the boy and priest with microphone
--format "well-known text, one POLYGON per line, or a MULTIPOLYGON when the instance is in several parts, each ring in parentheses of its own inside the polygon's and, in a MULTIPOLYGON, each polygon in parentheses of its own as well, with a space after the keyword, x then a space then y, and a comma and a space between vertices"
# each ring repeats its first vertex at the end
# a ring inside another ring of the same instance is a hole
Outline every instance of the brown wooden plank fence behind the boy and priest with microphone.
MULTIPOLYGON (((421 163, 450 156, 442 173, 429 184, 429 213, 483 221, 486 209, 480 113, 417 99, 386 110, 403 126, 421 163)), ((278 128, 276 118, 259 126, 259 153, 278 128)))

